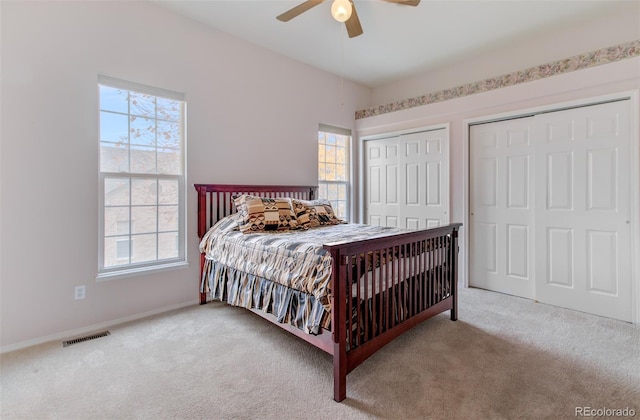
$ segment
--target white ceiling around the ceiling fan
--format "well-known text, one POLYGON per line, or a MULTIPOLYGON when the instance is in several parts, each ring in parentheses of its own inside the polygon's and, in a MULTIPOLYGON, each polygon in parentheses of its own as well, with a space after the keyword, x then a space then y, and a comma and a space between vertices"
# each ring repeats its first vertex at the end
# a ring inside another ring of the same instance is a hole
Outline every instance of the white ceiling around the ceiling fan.
POLYGON ((364 34, 349 38, 331 0, 289 22, 303 0, 152 0, 251 43, 376 87, 619 7, 614 0, 355 0, 364 34))

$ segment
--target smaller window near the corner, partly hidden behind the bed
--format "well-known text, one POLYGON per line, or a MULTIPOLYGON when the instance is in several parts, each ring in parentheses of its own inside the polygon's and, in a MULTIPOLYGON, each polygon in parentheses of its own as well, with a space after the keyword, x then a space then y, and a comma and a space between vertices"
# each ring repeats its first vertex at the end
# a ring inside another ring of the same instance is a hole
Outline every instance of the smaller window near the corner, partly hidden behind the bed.
POLYGON ((349 145, 351 131, 320 125, 318 131, 318 196, 331 202, 336 216, 349 218, 349 145))

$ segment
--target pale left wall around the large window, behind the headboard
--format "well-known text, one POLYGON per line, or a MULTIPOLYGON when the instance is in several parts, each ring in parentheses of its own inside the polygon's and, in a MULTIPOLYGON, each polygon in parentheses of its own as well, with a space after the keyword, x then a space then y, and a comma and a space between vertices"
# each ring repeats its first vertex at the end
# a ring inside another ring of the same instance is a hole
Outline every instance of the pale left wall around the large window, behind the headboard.
POLYGON ((317 182, 317 128, 354 129, 368 88, 146 2, 2 2, 0 345, 198 297, 193 183, 317 182), (96 282, 97 74, 185 92, 190 266, 96 282), (344 105, 341 105, 344 102, 344 105), (87 286, 73 300, 76 285, 87 286))

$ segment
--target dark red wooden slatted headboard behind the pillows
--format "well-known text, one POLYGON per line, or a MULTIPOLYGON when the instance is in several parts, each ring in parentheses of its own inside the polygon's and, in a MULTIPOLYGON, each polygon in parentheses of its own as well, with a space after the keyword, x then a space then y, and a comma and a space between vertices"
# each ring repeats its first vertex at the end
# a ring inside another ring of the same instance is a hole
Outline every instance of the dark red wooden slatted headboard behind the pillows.
POLYGON ((298 185, 229 185, 194 184, 198 192, 198 237, 202 238, 207 230, 218 220, 235 212, 233 197, 251 194, 258 197, 291 197, 300 200, 313 200, 316 186, 298 185))

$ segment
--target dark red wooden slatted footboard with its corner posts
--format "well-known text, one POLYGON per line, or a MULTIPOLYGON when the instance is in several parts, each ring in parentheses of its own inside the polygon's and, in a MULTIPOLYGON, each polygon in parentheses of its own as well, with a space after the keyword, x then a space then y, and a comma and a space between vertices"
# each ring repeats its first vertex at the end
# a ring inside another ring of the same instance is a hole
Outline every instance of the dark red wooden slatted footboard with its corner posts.
POLYGON ((334 399, 346 377, 384 345, 444 311, 457 319, 460 223, 325 245, 333 258, 334 399))

